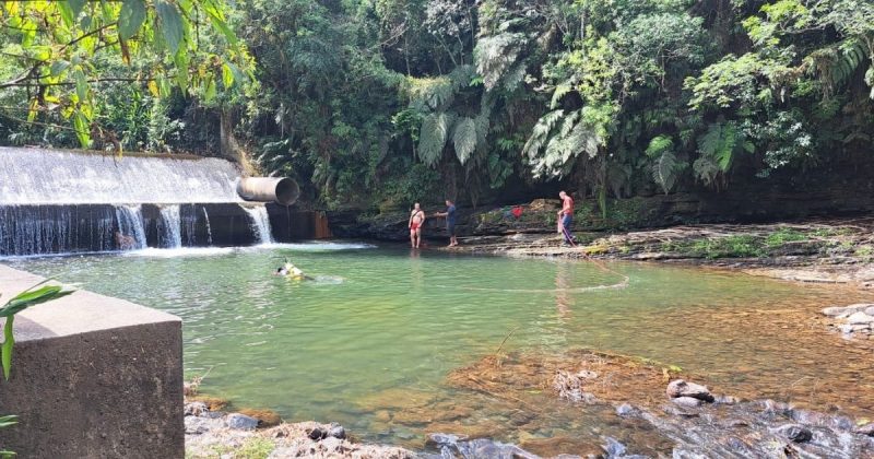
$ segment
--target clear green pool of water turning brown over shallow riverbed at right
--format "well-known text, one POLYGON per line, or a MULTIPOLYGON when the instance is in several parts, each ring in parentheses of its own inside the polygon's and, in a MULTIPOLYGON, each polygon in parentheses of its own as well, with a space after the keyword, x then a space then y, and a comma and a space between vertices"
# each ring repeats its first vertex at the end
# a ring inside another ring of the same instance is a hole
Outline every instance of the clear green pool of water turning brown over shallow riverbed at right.
MULTIPOLYGON (((286 420, 339 421, 369 439, 421 445, 428 422, 405 425, 397 412, 422 405, 417 398, 452 400, 448 372, 494 353, 510 332, 505 350, 592 346, 680 365, 728 393, 874 415, 874 387, 860 382, 872 353, 816 321, 824 306, 874 297, 835 286, 356 244, 4 262, 180 316, 186 373, 209 369, 205 392, 286 420), (316 280, 271 275, 285 257, 316 280), (623 275, 627 286, 591 289, 623 275)), ((567 419, 557 413, 541 435, 580 428, 567 419)), ((510 423, 497 425, 517 439, 510 423)))

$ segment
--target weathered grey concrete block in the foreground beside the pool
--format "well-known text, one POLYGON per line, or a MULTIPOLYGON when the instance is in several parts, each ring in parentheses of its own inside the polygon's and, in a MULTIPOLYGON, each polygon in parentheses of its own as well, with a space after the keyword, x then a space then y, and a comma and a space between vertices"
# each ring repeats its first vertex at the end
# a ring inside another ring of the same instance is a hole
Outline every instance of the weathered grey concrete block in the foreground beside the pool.
MULTIPOLYGON (((0 266, 0 301, 42 278, 0 266)), ((181 458, 181 320, 79 291, 15 318, 0 445, 23 458, 181 458)))

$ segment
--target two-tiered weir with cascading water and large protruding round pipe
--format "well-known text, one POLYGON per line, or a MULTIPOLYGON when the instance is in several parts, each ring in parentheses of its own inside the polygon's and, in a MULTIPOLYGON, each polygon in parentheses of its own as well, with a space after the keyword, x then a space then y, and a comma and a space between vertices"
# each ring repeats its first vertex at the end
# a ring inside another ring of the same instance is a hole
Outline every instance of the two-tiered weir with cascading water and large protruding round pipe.
POLYGON ((221 158, 0 148, 0 257, 318 237, 288 208, 299 195, 291 178, 243 177, 221 158))

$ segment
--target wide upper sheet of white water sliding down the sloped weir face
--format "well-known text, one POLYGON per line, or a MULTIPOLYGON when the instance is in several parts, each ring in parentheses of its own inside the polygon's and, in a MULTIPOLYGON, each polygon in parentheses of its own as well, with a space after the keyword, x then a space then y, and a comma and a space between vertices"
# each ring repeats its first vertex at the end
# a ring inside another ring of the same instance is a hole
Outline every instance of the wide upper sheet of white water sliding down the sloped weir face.
POLYGON ((238 181, 214 157, 0 148, 0 205, 240 202, 238 181))

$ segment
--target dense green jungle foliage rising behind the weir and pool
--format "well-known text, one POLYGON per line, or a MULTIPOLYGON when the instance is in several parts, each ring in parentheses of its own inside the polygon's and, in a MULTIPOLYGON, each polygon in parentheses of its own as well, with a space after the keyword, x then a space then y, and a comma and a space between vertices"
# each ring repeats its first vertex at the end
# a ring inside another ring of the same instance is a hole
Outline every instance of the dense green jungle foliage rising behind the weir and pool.
POLYGON ((2 25, 3 144, 233 132, 330 207, 719 190, 874 132, 869 0, 9 1, 2 25))

